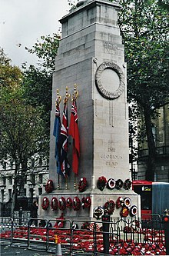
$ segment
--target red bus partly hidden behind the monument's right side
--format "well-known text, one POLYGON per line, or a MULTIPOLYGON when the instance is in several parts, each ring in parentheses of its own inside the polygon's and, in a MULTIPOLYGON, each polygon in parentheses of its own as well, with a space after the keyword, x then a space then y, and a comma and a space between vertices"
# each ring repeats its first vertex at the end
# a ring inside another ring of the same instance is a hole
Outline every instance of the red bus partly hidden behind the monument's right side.
POLYGON ((134 192, 141 195, 141 218, 151 218, 152 214, 164 214, 169 209, 169 183, 152 181, 132 181, 134 192))

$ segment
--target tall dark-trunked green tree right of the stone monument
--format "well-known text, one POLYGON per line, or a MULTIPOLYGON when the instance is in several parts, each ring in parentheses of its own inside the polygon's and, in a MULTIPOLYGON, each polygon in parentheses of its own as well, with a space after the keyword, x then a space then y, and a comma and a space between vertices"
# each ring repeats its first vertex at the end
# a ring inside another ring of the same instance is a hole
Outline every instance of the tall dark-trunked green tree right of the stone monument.
POLYGON ((128 65, 128 101, 144 116, 147 148, 146 179, 154 181, 152 133, 157 109, 168 104, 168 13, 156 0, 121 0, 119 25, 128 65))

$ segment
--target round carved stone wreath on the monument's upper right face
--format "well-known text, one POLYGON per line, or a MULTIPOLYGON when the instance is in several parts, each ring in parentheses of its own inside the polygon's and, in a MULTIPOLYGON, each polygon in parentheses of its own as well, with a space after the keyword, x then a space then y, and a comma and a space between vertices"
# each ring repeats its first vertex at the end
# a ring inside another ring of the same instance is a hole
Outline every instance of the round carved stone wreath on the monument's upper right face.
POLYGON ((121 68, 115 64, 114 62, 103 62, 99 65, 96 73, 95 73, 95 85, 98 88, 98 91, 104 98, 114 99, 118 98, 122 92, 124 91, 124 73, 121 71, 121 68), (118 88, 112 91, 104 88, 105 86, 101 83, 101 75, 105 69, 110 69, 111 71, 115 71, 119 78, 118 88))

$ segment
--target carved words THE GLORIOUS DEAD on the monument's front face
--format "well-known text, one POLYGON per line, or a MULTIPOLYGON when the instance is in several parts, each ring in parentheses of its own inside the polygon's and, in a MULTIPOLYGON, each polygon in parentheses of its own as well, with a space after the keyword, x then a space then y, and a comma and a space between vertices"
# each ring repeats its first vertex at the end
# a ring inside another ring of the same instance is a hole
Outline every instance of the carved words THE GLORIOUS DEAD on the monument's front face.
POLYGON ((118 162, 123 159, 122 155, 116 154, 115 148, 107 149, 107 153, 101 154, 100 158, 105 161, 106 166, 116 167, 118 162))

